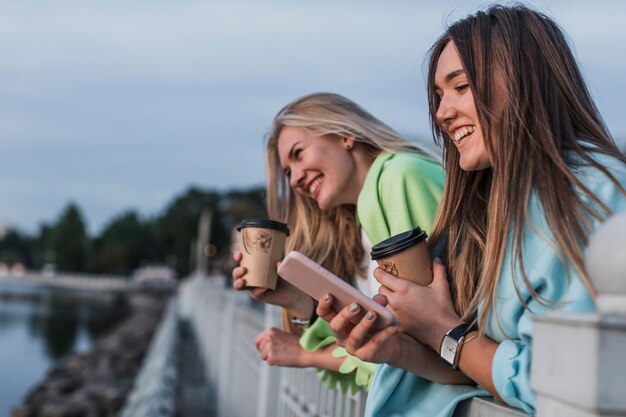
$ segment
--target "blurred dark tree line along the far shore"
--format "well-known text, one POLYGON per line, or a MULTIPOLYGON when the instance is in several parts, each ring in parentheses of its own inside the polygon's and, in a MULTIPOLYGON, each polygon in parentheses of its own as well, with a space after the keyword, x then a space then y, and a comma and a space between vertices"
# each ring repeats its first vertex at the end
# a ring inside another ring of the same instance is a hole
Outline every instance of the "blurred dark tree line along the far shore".
POLYGON ((0 239, 0 262, 27 269, 54 265, 57 271, 99 274, 132 273, 148 264, 163 264, 186 276, 191 268, 203 212, 211 213, 212 266, 230 259, 233 228, 243 218, 265 217, 265 190, 255 187, 219 192, 191 187, 174 197, 161 214, 144 218, 134 210, 110 220, 90 236, 80 207, 69 203, 57 220, 28 235, 10 229, 0 239))

